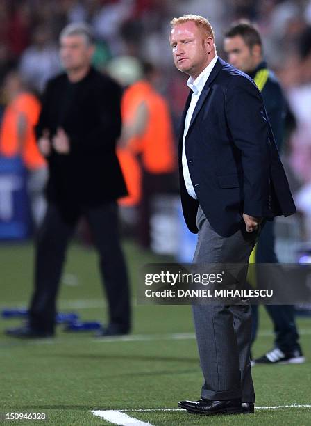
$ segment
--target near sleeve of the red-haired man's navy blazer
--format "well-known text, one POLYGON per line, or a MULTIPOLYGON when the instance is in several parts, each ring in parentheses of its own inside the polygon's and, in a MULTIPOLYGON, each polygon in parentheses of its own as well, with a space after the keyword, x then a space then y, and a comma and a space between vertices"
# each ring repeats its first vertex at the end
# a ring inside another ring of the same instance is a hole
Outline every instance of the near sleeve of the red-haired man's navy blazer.
POLYGON ((225 93, 225 111, 233 143, 241 152, 244 173, 244 213, 264 216, 269 197, 269 124, 262 96, 243 75, 230 80, 225 93))

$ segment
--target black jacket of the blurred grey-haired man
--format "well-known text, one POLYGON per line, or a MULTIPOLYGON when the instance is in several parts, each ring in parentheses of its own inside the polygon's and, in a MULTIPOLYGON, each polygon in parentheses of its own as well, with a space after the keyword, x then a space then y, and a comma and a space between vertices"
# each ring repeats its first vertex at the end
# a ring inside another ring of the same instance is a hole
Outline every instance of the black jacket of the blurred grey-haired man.
POLYGON ((77 83, 71 83, 66 74, 48 82, 37 138, 44 129, 53 137, 62 127, 71 144, 69 155, 53 150, 47 157, 47 198, 53 203, 71 210, 126 195, 115 153, 121 132, 120 102, 119 85, 93 68, 77 83))

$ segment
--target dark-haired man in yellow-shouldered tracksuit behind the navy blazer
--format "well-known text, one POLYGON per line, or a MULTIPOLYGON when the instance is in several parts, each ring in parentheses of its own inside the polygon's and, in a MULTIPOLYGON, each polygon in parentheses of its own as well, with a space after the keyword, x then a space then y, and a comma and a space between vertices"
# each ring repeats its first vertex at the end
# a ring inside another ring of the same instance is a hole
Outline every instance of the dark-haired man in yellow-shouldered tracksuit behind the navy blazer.
MULTIPOLYGON (((262 41, 258 30, 249 22, 234 24, 226 33, 224 49, 228 61, 246 72, 255 81, 262 93, 264 106, 274 132, 278 150, 282 148, 286 101, 278 80, 267 63, 262 60, 262 41)), ((274 221, 267 221, 262 229, 255 250, 256 263, 277 263, 274 250, 274 221)), ((266 305, 274 323, 275 347, 253 363, 303 363, 305 361, 299 345, 299 334, 292 305, 266 305)), ((253 340, 258 329, 258 306, 253 305, 253 340)))

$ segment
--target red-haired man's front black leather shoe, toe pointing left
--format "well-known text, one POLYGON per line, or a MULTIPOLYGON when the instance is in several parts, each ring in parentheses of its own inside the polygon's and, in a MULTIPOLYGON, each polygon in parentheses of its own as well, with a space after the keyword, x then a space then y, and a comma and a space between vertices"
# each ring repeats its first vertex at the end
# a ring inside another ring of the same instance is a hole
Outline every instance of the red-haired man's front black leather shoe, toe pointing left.
POLYGON ((212 401, 201 398, 199 401, 180 401, 178 407, 195 414, 242 413, 241 400, 212 401))

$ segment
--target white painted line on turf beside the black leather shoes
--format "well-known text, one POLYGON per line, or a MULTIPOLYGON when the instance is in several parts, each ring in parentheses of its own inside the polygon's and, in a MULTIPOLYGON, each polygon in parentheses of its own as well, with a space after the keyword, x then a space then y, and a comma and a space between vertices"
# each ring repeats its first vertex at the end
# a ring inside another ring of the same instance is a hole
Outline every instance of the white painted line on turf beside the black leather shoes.
MULTIPOLYGON (((311 408, 311 404, 290 404, 290 405, 271 405, 255 407, 257 410, 276 410, 287 408, 311 408)), ((94 416, 101 417, 108 422, 121 426, 152 426, 151 423, 143 422, 137 418, 128 416, 127 412, 132 413, 150 413, 153 411, 186 411, 184 409, 162 408, 162 409, 126 409, 126 410, 93 410, 94 416)))

